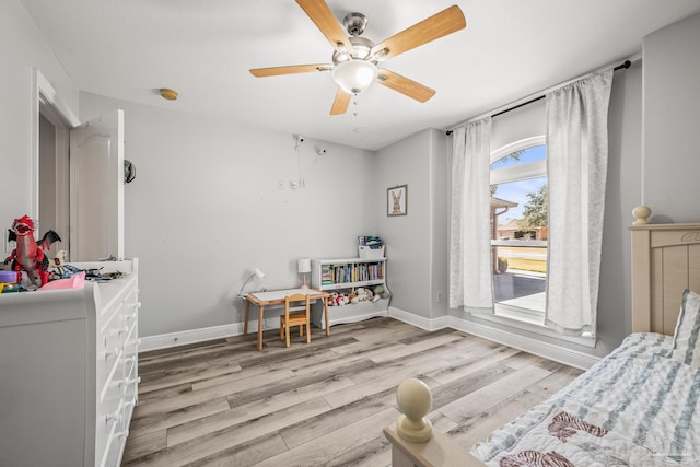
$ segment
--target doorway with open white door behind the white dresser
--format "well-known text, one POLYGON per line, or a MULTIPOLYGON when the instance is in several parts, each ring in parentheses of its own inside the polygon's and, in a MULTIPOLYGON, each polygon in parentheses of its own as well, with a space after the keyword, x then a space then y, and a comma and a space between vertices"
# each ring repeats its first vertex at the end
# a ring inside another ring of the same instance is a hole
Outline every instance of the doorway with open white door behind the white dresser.
POLYGON ((61 237, 49 252, 69 260, 124 258, 124 110, 81 125, 35 69, 32 212, 39 234, 61 237))

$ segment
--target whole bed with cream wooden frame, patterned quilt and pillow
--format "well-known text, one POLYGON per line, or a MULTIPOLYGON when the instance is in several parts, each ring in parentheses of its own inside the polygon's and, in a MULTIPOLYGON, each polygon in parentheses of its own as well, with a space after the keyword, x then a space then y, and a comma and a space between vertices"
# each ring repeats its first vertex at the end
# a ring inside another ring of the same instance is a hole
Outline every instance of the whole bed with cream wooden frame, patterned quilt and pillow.
POLYGON ((631 235, 632 334, 615 351, 470 453, 385 430, 394 466, 699 465, 700 224, 639 222, 631 235))

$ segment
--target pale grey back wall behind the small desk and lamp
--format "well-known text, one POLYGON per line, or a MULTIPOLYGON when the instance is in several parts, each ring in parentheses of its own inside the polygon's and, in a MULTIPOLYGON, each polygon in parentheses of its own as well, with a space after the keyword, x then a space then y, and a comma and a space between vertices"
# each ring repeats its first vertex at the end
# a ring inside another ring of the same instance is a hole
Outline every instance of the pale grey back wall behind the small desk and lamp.
POLYGON ((126 159, 137 166, 125 187, 125 249, 140 258, 142 336, 242 323, 234 295, 253 268, 267 277, 249 290, 295 285, 296 259, 354 257, 357 237, 373 233, 372 152, 307 140, 305 188, 278 189, 299 178, 292 135, 80 100, 83 121, 125 110, 126 159))

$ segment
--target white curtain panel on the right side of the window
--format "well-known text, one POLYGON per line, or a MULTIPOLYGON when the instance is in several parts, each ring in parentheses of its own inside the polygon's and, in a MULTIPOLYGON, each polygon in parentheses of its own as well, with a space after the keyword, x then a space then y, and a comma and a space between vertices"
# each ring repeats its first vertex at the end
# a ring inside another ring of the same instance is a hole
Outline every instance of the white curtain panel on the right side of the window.
POLYGON ((545 324, 596 331, 612 70, 547 94, 549 208, 545 324))

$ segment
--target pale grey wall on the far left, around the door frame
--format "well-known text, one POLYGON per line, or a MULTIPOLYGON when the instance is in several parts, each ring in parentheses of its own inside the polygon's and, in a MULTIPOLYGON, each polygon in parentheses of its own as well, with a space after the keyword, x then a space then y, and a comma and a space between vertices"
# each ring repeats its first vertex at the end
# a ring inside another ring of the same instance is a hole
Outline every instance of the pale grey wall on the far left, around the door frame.
MULTIPOLYGON (((34 67, 42 71, 73 113, 78 113, 78 89, 18 0, 0 1, 0 178, 3 197, 0 230, 4 236, 15 218, 35 215, 32 212, 32 144, 38 141, 32 141, 31 128, 32 112, 36 108, 34 67)), ((44 226, 50 229, 50 225, 44 226)), ((4 249, 4 240, 0 245, 0 249, 4 249)), ((5 252, 0 253, 4 258, 5 252)))

